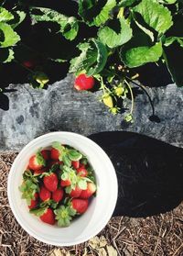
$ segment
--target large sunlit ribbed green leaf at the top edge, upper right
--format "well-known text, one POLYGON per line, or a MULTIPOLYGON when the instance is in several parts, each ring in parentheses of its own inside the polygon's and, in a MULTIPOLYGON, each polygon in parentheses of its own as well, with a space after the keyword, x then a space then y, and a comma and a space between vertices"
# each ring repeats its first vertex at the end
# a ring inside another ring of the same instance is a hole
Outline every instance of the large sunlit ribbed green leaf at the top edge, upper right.
POLYGON ((133 11, 139 13, 145 23, 159 34, 165 33, 173 25, 170 11, 156 0, 142 0, 139 5, 133 7, 133 11))

